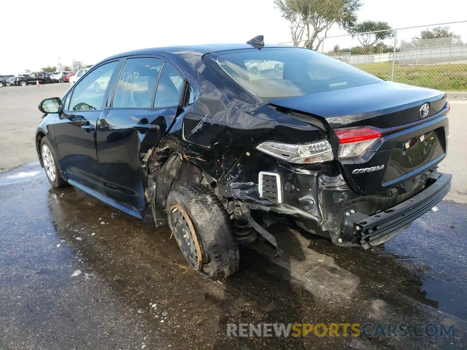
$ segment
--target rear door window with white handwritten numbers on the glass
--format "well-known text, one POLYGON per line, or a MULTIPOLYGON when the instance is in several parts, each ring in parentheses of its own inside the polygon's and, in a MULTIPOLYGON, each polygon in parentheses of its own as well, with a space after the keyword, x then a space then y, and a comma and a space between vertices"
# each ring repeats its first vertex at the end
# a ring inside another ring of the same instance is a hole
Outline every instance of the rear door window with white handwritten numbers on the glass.
POLYGON ((120 73, 112 107, 150 108, 163 61, 158 58, 129 58, 120 73))

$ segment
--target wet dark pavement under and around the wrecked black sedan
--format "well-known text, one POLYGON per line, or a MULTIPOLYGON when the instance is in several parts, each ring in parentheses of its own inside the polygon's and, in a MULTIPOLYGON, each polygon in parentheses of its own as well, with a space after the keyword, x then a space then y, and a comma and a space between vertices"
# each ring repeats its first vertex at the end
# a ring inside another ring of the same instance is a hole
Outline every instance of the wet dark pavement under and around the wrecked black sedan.
POLYGON ((276 225, 286 254, 257 240, 219 283, 184 267, 167 228, 52 190, 29 163, 0 175, 0 349, 466 349, 466 229, 467 206, 448 202, 370 251, 276 225), (260 322, 446 322, 455 336, 226 337, 260 322))

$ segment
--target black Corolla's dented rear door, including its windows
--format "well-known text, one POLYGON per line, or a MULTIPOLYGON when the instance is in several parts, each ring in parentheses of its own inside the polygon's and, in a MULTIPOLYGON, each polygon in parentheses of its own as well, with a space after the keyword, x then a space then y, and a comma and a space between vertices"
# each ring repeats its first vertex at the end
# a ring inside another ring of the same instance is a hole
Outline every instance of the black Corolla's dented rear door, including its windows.
POLYGON ((144 205, 142 157, 174 121, 183 84, 177 68, 160 57, 127 58, 110 106, 99 118, 97 154, 105 193, 136 213, 144 205))

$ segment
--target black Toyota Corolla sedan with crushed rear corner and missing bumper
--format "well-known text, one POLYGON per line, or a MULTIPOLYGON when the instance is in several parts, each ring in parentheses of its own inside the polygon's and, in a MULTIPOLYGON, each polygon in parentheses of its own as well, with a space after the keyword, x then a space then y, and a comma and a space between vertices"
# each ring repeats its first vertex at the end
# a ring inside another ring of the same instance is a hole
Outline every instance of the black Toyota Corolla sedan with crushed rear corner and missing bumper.
POLYGON ((41 102, 35 141, 52 186, 168 224, 219 279, 257 234, 281 252, 271 223, 368 249, 432 209, 451 185, 437 171, 449 108, 444 92, 256 37, 109 57, 41 102))

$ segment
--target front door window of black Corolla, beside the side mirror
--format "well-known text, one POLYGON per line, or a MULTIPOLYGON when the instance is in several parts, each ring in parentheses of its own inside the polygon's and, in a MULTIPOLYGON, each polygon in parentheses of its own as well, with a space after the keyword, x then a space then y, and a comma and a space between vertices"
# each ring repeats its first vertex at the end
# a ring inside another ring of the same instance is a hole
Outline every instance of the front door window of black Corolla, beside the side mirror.
POLYGON ((70 110, 87 111, 101 109, 107 85, 116 66, 117 61, 106 63, 93 70, 86 77, 83 77, 83 79, 79 79, 71 95, 70 110))

